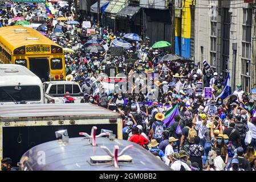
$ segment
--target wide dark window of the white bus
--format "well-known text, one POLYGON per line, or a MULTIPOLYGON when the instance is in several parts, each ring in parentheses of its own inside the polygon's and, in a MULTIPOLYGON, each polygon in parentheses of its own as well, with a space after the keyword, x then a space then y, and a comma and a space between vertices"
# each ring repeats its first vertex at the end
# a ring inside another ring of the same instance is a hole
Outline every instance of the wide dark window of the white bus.
POLYGON ((40 99, 40 87, 37 85, 21 86, 20 89, 15 89, 15 86, 0 87, 0 102, 40 101, 40 99))

